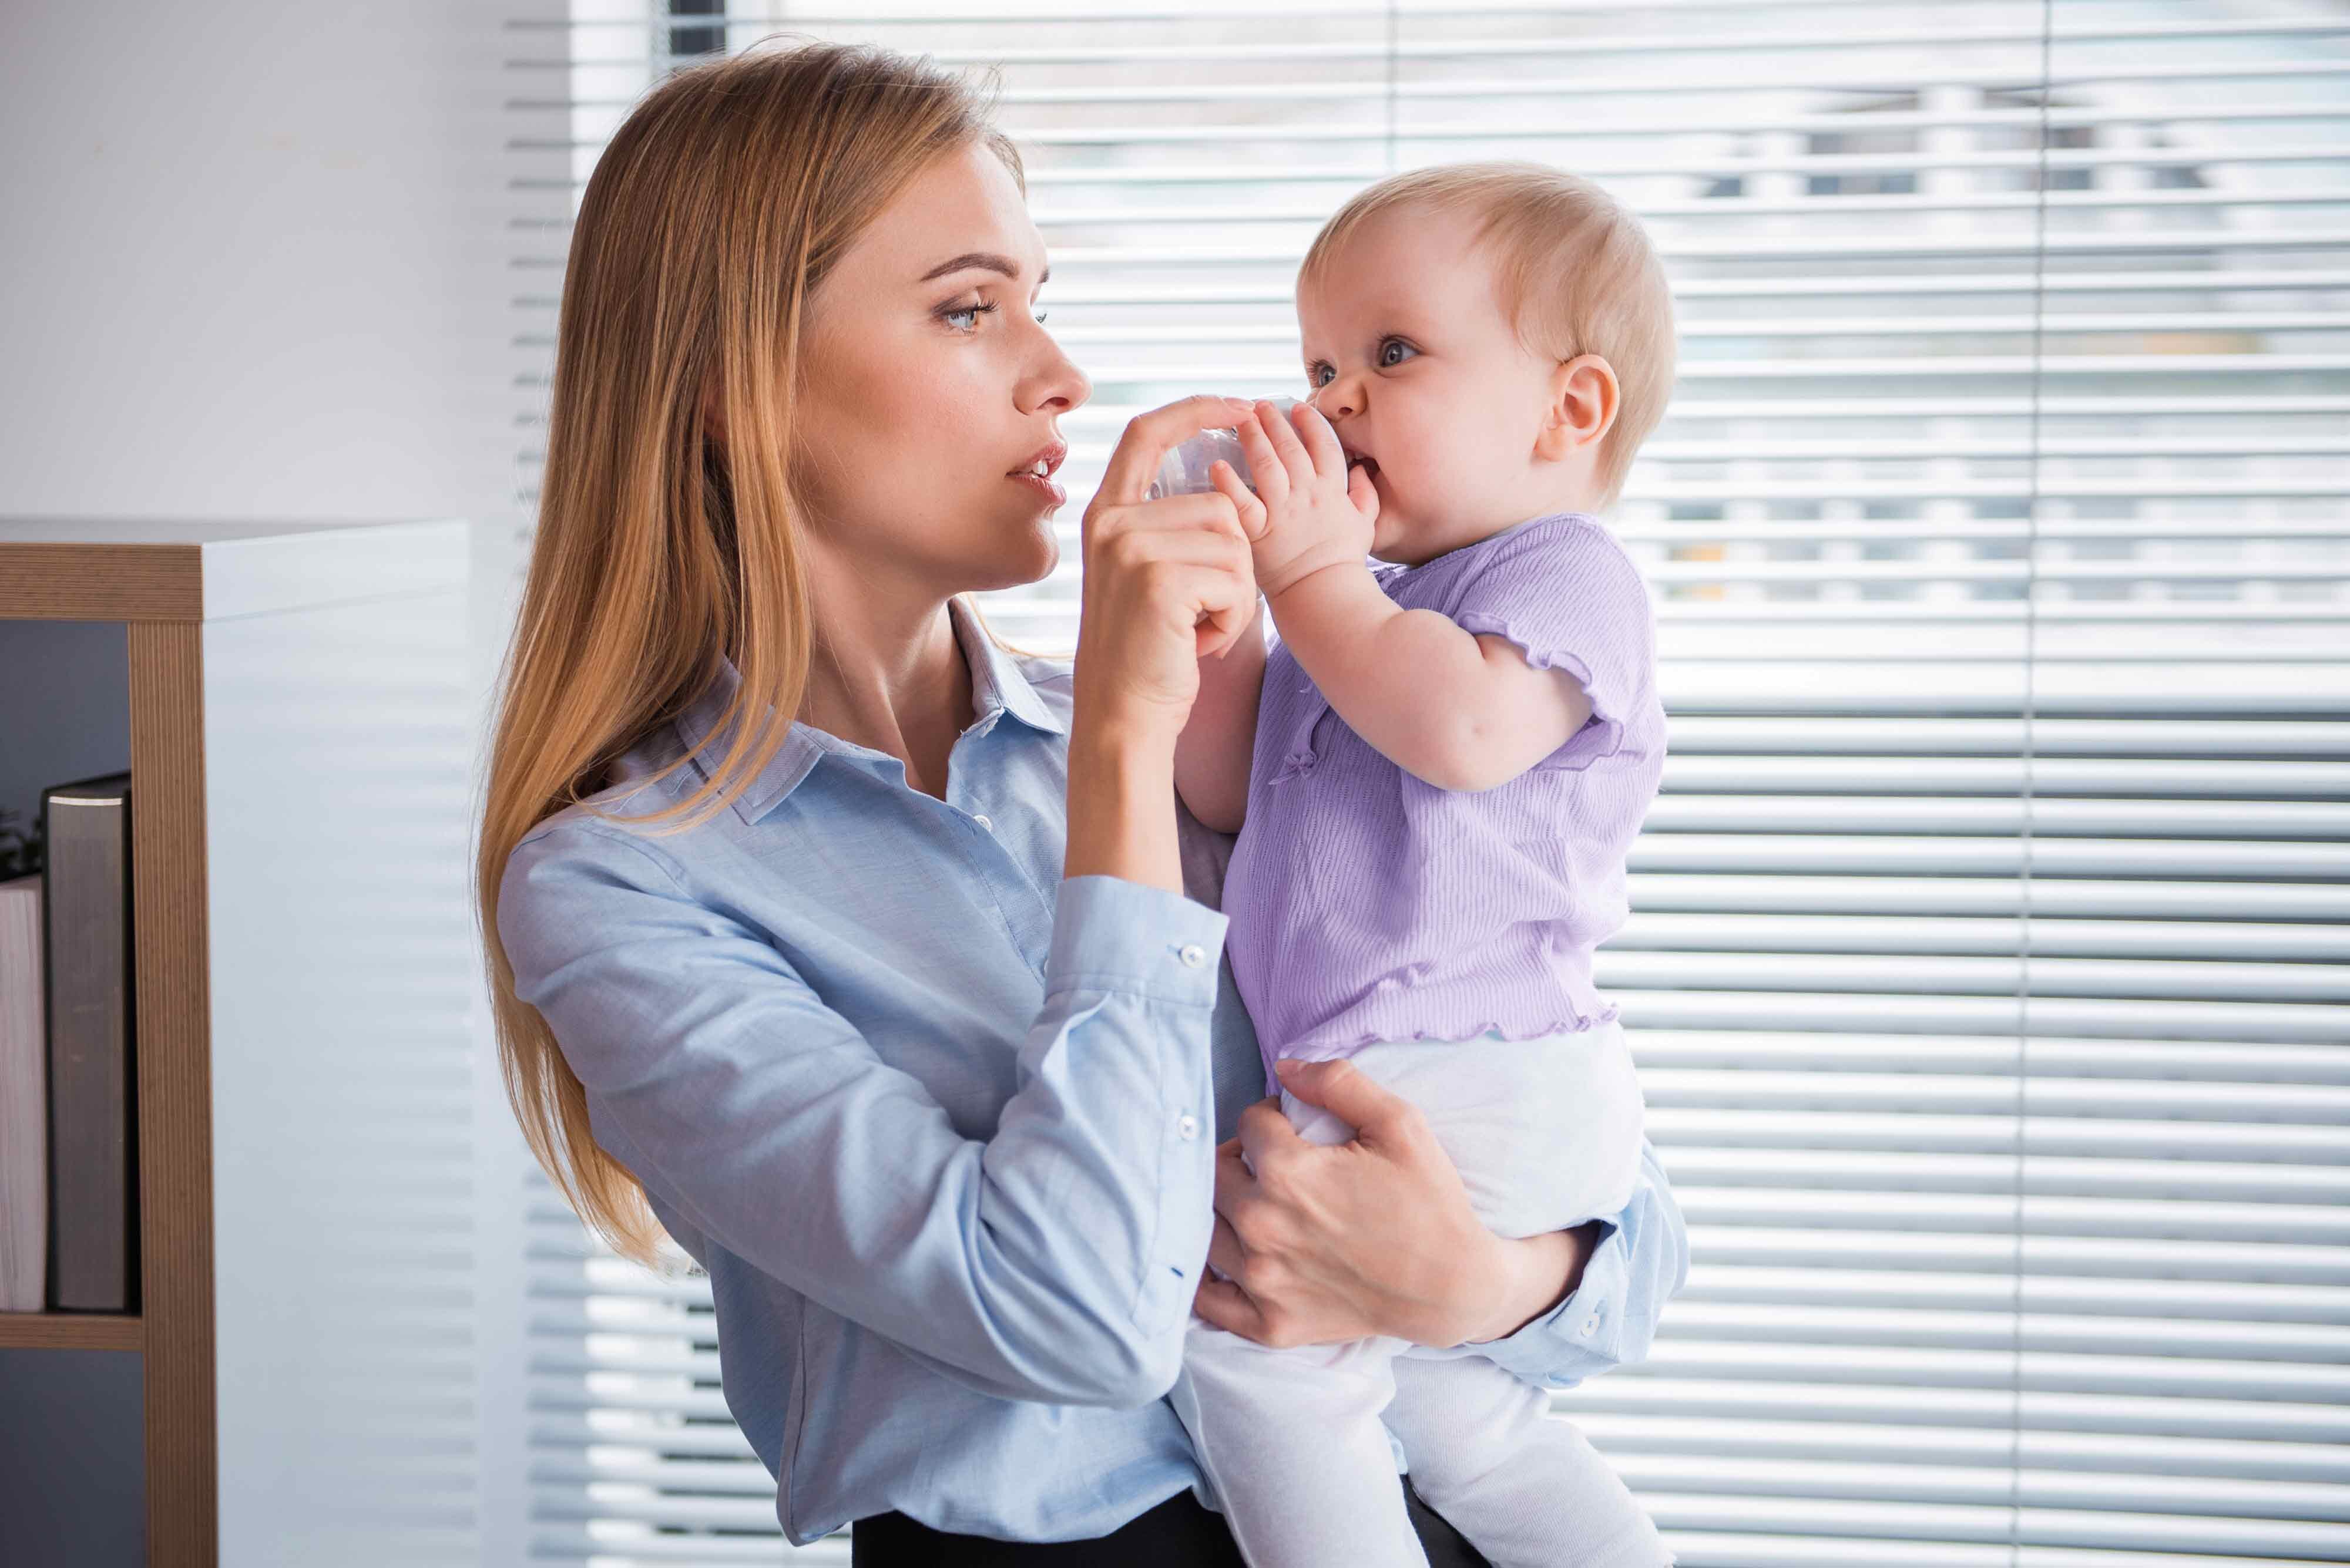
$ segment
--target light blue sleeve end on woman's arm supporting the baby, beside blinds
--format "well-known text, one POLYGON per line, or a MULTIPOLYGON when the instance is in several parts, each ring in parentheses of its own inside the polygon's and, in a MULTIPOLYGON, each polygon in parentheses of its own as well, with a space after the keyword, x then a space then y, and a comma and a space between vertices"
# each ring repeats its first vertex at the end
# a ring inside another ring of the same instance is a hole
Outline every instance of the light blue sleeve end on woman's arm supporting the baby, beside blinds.
POLYGON ((1480 1354, 1544 1387, 1574 1387, 1612 1366, 1647 1359, 1657 1319, 1690 1279, 1690 1237, 1657 1148, 1640 1138, 1640 1181, 1605 1221, 1574 1291, 1502 1340, 1419 1354, 1480 1354))

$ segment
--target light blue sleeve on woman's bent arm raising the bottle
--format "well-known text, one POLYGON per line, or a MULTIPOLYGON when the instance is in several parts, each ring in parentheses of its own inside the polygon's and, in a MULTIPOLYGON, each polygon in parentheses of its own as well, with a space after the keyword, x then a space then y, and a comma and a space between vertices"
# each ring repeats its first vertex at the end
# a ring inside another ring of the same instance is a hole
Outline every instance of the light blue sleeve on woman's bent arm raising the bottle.
POLYGON ((1224 927, 1175 892, 1067 878, 982 1143, 625 831, 526 838, 498 894, 515 993, 649 1195, 947 1376, 1053 1404, 1144 1404, 1180 1368, 1215 1218, 1224 927))

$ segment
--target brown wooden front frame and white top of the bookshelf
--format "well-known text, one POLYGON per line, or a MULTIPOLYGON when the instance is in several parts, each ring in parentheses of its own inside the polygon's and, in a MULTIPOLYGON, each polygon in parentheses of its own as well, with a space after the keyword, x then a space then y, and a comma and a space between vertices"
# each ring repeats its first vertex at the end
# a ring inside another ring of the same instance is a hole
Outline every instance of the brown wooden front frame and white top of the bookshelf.
POLYGON ((0 519, 0 620, 129 638, 139 1312, 0 1314, 0 1347, 134 1350, 148 1563, 219 1568, 207 622, 463 587, 465 526, 0 519), (451 566, 456 561, 456 566, 451 566))

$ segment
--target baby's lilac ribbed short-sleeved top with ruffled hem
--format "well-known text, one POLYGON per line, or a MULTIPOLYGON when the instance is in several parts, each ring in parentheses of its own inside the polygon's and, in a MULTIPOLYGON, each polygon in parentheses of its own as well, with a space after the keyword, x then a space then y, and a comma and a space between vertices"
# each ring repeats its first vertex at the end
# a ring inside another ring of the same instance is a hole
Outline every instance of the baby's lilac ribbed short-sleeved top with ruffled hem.
POLYGON ((1356 735, 1271 646, 1224 880, 1231 972, 1267 1068, 1375 1040, 1528 1040, 1617 1016, 1591 951, 1624 925, 1624 854, 1664 770, 1640 570, 1598 519, 1553 512, 1372 573, 1408 610, 1572 671, 1591 721, 1506 784, 1438 789, 1356 735))

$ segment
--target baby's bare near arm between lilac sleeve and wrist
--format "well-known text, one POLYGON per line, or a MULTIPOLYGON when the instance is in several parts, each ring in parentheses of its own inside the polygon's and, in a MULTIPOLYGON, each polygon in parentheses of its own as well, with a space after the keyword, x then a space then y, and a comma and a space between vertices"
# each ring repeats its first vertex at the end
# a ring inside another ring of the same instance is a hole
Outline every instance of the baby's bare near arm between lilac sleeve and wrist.
POLYGON ((1535 669, 1506 636, 1396 606, 1365 563, 1309 573, 1271 606, 1281 641, 1337 716, 1438 789, 1506 784, 1591 718, 1574 671, 1535 669))

